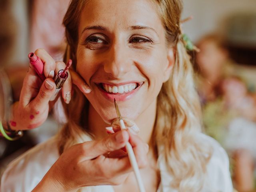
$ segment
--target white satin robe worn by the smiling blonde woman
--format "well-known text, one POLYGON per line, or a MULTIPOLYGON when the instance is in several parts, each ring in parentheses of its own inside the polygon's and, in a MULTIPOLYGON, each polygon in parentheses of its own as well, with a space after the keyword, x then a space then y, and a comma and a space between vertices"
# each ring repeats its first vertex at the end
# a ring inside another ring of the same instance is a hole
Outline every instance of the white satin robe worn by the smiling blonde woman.
MULTIPOLYGON (((207 184, 203 192, 232 192, 229 160, 224 149, 212 138, 204 134, 200 137, 213 147, 213 154, 207 165, 207 184), (208 190, 211 188, 212 190, 208 190)), ((11 162, 2 175, 1 192, 30 192, 58 159, 56 138, 39 144, 11 162)), ((172 175, 167 172, 163 154, 159 152, 158 166, 161 183, 157 192, 176 192, 170 188, 172 175)), ((114 192, 112 186, 89 186, 78 192, 114 192)))

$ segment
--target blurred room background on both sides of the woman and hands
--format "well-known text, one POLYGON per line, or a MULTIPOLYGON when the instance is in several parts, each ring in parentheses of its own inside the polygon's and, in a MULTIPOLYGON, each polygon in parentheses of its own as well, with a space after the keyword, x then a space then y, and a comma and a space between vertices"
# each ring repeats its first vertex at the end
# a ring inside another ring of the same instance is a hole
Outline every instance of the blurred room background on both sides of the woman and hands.
MULTIPOLYGON (((230 157, 234 187, 256 191, 256 0, 183 0, 206 134, 230 157)), ((69 0, 0 0, 0 115, 19 99, 28 53, 44 48, 55 60, 65 49, 62 18, 69 0), (7 99, 6 99, 7 98, 7 99)), ((7 164, 58 132, 51 114, 15 142, 0 138, 0 175, 7 164)))

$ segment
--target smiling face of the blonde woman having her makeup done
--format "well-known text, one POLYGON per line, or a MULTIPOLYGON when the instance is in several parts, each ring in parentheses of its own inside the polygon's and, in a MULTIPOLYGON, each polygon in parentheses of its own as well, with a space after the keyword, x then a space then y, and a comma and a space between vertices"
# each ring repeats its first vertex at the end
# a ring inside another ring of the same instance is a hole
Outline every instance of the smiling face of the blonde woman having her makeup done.
MULTIPOLYGON (((78 28, 77 72, 92 89, 86 97, 110 123, 136 120, 156 101, 168 80, 174 56, 150 0, 94 0, 82 10, 78 28)), ((155 109, 155 108, 154 108, 155 109)))

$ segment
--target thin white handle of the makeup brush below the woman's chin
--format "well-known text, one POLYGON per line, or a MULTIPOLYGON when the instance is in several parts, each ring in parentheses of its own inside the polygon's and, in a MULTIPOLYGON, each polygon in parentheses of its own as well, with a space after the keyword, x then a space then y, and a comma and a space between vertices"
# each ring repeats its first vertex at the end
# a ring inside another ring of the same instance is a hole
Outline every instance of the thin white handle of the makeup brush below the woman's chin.
MULTIPOLYGON (((126 127, 124 125, 124 120, 122 120, 122 119, 120 119, 120 126, 121 126, 121 129, 126 129, 126 127)), ((138 183, 140 192, 146 192, 145 188, 143 186, 142 178, 140 176, 140 170, 139 170, 134 152, 132 150, 131 144, 129 142, 127 142, 125 145, 125 148, 126 148, 126 151, 128 152, 128 157, 129 157, 130 163, 132 164, 132 168, 135 173, 135 177, 137 179, 137 183, 138 183)))

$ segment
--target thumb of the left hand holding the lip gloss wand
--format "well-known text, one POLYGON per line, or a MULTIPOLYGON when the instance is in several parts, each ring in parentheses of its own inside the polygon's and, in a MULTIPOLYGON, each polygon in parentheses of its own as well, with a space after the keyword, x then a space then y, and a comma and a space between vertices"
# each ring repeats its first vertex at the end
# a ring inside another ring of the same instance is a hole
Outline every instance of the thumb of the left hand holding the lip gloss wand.
POLYGON ((32 101, 32 104, 34 106, 37 106, 38 108, 44 108, 45 106, 48 106, 48 103, 50 101, 50 98, 55 92, 56 84, 52 78, 47 78, 44 80, 38 95, 36 98, 32 101))

